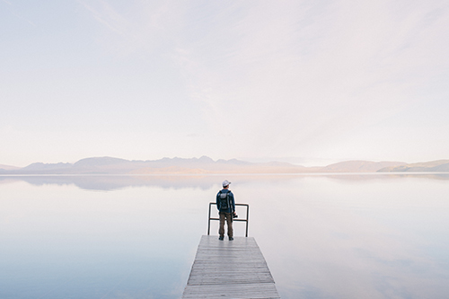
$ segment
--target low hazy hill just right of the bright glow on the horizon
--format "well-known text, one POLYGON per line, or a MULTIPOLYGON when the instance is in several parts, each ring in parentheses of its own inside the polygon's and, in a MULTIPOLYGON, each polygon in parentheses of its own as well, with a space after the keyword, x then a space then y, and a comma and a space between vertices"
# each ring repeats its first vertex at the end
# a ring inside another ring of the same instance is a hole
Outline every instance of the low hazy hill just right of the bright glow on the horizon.
POLYGON ((375 172, 385 167, 405 165, 403 162, 345 161, 321 168, 322 172, 375 172))

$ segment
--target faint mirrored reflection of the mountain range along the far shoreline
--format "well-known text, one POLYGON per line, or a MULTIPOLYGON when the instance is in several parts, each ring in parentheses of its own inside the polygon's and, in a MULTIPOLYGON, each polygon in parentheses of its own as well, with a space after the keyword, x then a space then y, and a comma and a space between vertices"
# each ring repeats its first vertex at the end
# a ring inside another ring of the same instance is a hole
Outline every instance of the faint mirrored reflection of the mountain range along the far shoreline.
MULTIPOLYGON (((286 180, 305 179, 316 174, 291 175, 34 175, 34 176, 0 176, 0 184, 14 181, 25 181, 31 185, 41 186, 55 184, 59 186, 75 185, 88 190, 117 190, 129 187, 158 187, 163 189, 219 189, 221 181, 228 179, 239 185, 257 182, 261 185, 273 185, 286 180)), ((426 178, 432 180, 449 180, 449 173, 427 174, 320 174, 330 180, 401 180, 403 178, 426 178)))

